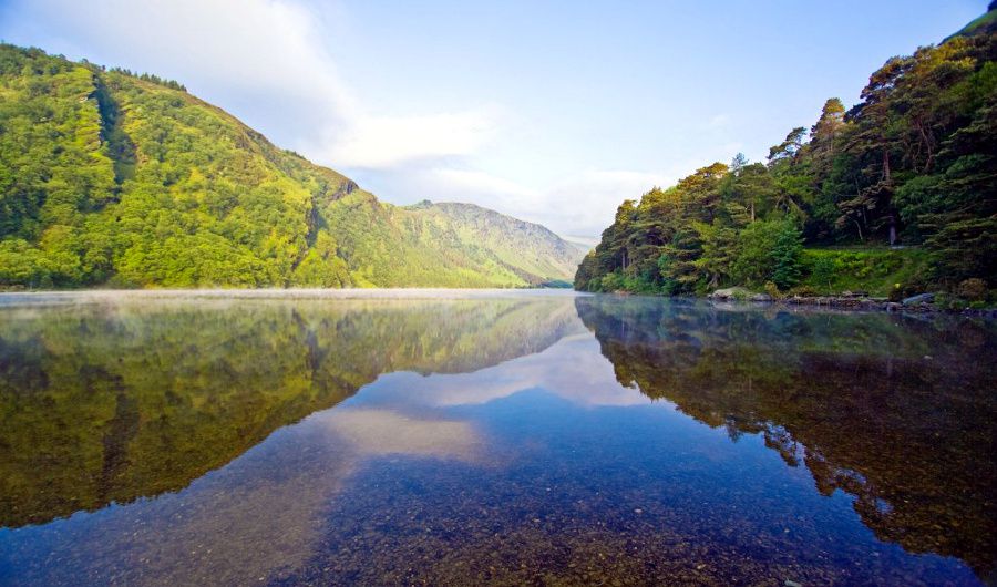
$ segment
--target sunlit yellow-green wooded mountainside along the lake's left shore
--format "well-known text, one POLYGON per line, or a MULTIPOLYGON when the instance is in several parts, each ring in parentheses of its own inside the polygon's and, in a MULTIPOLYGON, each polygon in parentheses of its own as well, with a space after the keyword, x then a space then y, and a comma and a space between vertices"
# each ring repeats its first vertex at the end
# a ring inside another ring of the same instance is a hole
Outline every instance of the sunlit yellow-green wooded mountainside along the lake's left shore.
POLYGON ((0 287, 571 280, 548 230, 451 207, 381 203, 176 82, 0 45, 0 287))

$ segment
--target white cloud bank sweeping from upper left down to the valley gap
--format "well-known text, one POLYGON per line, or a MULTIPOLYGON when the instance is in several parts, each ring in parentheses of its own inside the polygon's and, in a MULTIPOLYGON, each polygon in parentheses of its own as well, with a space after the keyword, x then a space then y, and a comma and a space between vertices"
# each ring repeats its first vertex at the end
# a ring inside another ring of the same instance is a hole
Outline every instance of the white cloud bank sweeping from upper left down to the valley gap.
MULTIPOLYGON (((561 177, 541 173, 524 184, 485 151, 516 150, 524 138, 516 138, 515 128, 541 132, 538 121, 497 103, 372 111, 372 101, 350 86, 329 53, 350 27, 349 12, 337 3, 16 0, 0 16, 0 37, 9 41, 43 39, 44 49, 74 59, 176 79, 278 145, 374 184, 366 187, 391 202, 473 202, 555 231, 597 236, 620 202, 675 177, 659 171, 571 172, 568 164, 559 167, 561 177)), ((716 122, 722 125, 723 119, 716 122)))

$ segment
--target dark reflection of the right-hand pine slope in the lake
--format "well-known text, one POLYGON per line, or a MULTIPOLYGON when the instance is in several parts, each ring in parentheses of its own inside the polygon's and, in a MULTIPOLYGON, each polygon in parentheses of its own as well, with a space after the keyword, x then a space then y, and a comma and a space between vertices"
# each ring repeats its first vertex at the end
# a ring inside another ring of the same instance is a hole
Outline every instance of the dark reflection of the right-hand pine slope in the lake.
POLYGON ((760 433, 883 540, 995 568, 993 325, 578 298, 621 384, 760 433))

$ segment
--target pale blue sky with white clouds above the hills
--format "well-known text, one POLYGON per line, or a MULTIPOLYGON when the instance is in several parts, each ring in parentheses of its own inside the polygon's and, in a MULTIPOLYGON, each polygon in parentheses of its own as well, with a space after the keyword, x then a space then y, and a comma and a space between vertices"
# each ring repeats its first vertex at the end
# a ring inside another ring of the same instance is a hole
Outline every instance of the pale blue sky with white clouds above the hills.
POLYGON ((0 39, 174 79, 383 200, 565 236, 737 153, 986 0, 0 0, 0 39))

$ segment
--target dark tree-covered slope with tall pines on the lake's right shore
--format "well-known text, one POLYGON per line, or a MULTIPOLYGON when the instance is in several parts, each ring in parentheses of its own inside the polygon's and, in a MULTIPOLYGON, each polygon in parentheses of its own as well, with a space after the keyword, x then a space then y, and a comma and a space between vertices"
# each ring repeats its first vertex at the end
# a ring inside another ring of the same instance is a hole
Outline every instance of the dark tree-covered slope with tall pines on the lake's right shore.
POLYGON ((739 154, 624 202, 575 287, 888 284, 888 294, 943 287, 985 298, 997 285, 995 55, 991 6, 939 45, 890 59, 850 110, 828 100, 765 163, 739 154))

